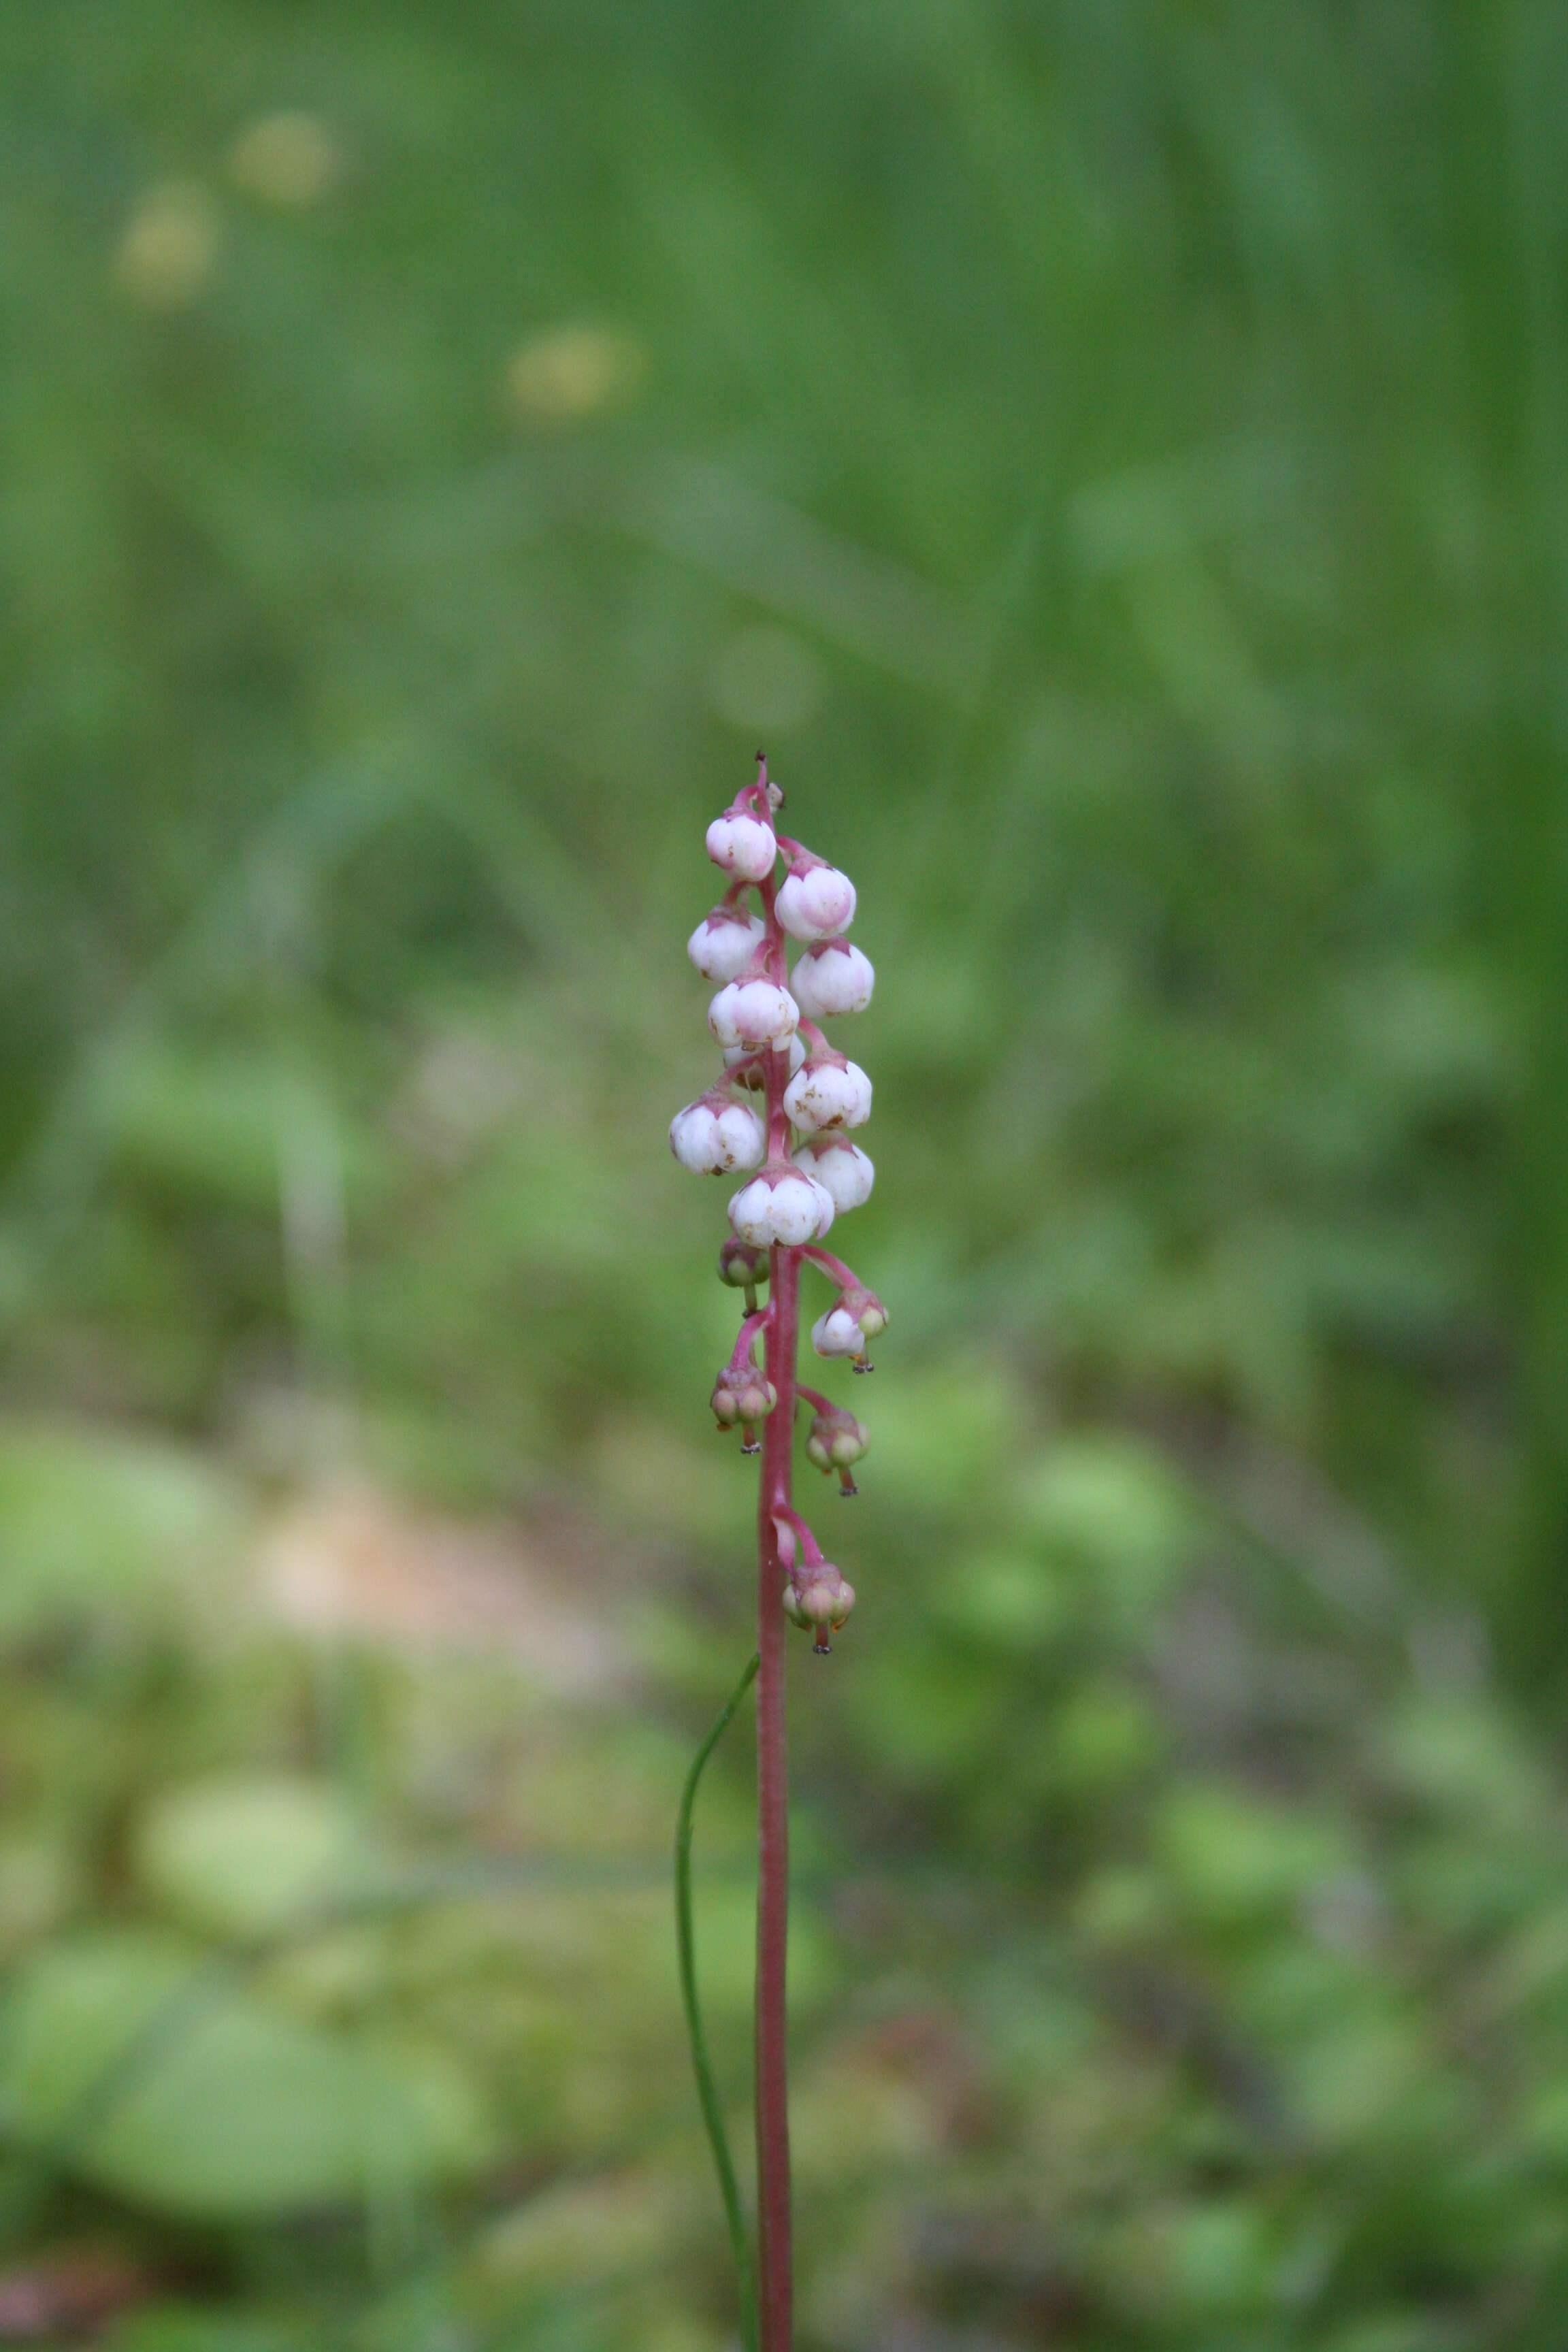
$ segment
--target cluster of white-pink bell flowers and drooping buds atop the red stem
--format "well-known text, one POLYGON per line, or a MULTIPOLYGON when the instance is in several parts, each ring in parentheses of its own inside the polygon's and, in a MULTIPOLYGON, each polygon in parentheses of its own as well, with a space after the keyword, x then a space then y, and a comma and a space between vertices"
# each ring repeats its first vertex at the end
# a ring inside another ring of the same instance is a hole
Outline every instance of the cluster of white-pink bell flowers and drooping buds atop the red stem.
POLYGON ((686 953, 715 983, 708 1028, 724 1049, 724 1073, 675 1112, 670 1150, 693 1174, 745 1178, 729 1197, 731 1237, 719 1251, 719 1279, 745 1294, 745 1319, 715 1383, 712 1411, 722 1430, 741 1428, 743 1451, 766 1456, 771 1517, 764 1517, 764 1534, 769 1524, 776 1531, 785 1611, 797 1625, 811 1625, 825 1651, 856 1595, 790 1505, 795 1411, 799 1404, 813 1409, 806 1456, 823 1472, 839 1472, 842 1494, 856 1494, 851 1468, 870 1439, 853 1414, 799 1388, 797 1298, 804 1261, 835 1284, 832 1303, 811 1327, 811 1345, 823 1357, 846 1357, 851 1371, 872 1369, 867 1345, 886 1329, 886 1310, 820 1247, 835 1218, 858 1209, 875 1183, 877 1171, 851 1136, 870 1117, 872 1082, 818 1023, 865 1011, 875 974, 846 938, 856 917, 853 882, 778 830, 780 807, 783 793, 759 755, 755 783, 708 828, 708 856, 729 887, 698 922, 686 953), (792 969, 790 941, 802 943, 792 969), (764 1308, 757 1305, 762 1289, 769 1291, 764 1308), (759 1439, 764 1425, 780 1435, 759 1439))

